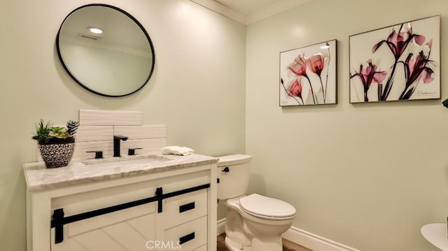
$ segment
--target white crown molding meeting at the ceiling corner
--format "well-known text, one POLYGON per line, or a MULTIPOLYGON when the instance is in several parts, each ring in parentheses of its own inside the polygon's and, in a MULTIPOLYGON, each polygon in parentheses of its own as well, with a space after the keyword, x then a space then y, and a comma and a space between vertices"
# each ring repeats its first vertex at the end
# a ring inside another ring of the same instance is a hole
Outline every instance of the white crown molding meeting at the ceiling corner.
POLYGON ((267 17, 271 17, 272 15, 281 13, 290 8, 294 8, 295 6, 300 6, 300 5, 307 3, 311 0, 279 1, 278 3, 274 3, 271 6, 269 6, 269 8, 265 8, 265 10, 260 10, 257 13, 254 13, 253 15, 249 15, 248 17, 242 15, 241 13, 238 13, 235 10, 232 10, 231 8, 223 6, 221 3, 218 3, 217 1, 214 1, 214 0, 190 0, 190 1, 193 1, 201 6, 204 6, 205 8, 208 8, 209 10, 213 10, 217 13, 220 13, 221 15, 229 17, 232 20, 241 22, 241 24, 248 25, 253 22, 258 22, 260 20, 263 20, 267 17))

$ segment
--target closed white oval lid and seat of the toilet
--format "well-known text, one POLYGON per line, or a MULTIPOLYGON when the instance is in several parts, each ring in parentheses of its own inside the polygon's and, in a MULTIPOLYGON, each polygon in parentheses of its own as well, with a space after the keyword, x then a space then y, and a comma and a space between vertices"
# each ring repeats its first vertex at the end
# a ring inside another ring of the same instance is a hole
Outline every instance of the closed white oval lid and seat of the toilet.
POLYGON ((291 217, 295 208, 288 202, 279 199, 251 194, 239 199, 239 206, 246 213, 265 217, 291 217))

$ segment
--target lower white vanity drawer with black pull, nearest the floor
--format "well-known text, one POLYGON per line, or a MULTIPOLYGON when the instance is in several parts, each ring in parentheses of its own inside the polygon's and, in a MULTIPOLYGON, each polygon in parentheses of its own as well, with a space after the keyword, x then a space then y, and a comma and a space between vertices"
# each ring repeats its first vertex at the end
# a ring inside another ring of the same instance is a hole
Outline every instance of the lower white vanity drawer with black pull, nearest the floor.
POLYGON ((190 251, 207 243, 207 216, 165 230, 165 241, 180 241, 179 250, 190 251))

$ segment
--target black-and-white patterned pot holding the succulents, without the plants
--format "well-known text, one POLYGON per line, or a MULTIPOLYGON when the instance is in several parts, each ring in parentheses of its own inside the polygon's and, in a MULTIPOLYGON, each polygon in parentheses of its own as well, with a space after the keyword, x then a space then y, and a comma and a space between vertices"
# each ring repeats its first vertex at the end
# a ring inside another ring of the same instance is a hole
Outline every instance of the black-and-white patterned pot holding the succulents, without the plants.
POLYGON ((45 166, 48 168, 66 166, 73 157, 75 138, 53 138, 48 143, 38 143, 45 166))

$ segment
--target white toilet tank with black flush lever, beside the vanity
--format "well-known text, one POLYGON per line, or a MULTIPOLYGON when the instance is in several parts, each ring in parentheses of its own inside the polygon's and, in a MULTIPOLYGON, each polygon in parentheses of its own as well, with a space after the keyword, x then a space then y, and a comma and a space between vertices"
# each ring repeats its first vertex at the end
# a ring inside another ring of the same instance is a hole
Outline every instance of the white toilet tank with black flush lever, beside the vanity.
POLYGON ((225 200, 246 194, 251 155, 218 157, 218 199, 225 200))

